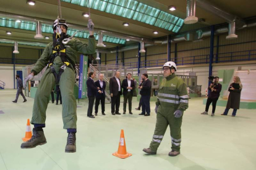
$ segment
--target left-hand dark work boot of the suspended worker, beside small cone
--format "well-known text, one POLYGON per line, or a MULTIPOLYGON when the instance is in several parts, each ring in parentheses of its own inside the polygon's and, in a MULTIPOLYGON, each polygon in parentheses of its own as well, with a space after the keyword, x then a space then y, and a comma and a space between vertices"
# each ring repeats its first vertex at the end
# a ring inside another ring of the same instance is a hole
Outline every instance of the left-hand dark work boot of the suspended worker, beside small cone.
POLYGON ((37 145, 46 144, 45 134, 43 133, 43 129, 40 131, 36 131, 33 128, 33 136, 27 142, 21 144, 20 148, 35 148, 37 145))

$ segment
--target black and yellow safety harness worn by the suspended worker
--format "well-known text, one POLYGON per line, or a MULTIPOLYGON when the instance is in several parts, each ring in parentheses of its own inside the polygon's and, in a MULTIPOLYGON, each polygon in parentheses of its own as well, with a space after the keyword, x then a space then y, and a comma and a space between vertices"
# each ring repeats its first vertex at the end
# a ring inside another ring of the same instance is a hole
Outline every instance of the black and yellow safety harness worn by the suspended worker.
POLYGON ((65 38, 69 38, 69 35, 66 35, 66 33, 57 33, 57 31, 54 31, 53 33, 53 52, 51 54, 51 59, 49 60, 48 67, 51 69, 51 73, 53 73, 54 78, 56 80, 56 84, 59 83, 59 80, 61 79, 61 75, 66 69, 66 67, 75 69, 75 63, 72 63, 72 60, 69 59, 69 57, 66 54, 66 47, 64 44, 62 44, 62 40, 65 38), (59 68, 59 74, 56 73, 55 68, 53 67, 54 59, 59 56, 61 57, 61 60, 63 62, 63 65, 61 68, 59 68), (72 65, 72 67, 71 67, 72 65))

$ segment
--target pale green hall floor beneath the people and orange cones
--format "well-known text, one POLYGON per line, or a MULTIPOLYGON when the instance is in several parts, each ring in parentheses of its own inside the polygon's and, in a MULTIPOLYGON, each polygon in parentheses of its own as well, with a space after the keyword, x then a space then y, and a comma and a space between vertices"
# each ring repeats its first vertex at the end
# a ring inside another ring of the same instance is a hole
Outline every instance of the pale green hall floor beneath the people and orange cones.
MULTIPOLYGON (((156 123, 155 102, 151 116, 139 116, 132 102, 134 115, 111 115, 106 103, 106 116, 87 117, 88 100, 77 102, 77 152, 65 153, 67 132, 62 129, 61 105, 49 103, 45 136, 47 144, 21 149, 27 119, 32 118, 33 99, 12 103, 15 90, 0 90, 0 169, 256 169, 256 111, 240 109, 237 116, 221 116, 224 107, 216 107, 214 117, 200 115, 205 109, 203 98, 190 99, 182 123, 181 155, 168 156, 171 150, 169 127, 156 155, 142 152, 153 137, 156 123), (132 156, 120 159, 117 151, 121 129, 124 129, 127 152, 132 156)), ((127 107, 128 108, 128 107, 127 107)), ((99 108, 101 110, 101 108, 99 108)), ((93 109, 94 110, 94 109, 93 109)), ((211 110, 211 107, 210 107, 211 110)), ((99 111, 100 112, 100 111, 99 111)), ((122 99, 120 112, 122 113, 122 99)), ((128 111, 127 111, 128 112, 128 111)), ((209 111, 210 112, 210 111, 209 111)), ((33 126, 32 126, 33 127, 33 126)))

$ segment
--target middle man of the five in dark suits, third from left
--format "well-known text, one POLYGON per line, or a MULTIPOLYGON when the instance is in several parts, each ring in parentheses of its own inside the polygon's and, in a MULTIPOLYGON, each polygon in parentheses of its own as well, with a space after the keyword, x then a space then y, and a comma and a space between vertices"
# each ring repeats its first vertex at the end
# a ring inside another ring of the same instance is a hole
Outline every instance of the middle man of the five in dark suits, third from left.
POLYGON ((116 71, 114 77, 109 80, 109 91, 111 96, 111 113, 112 115, 121 115, 119 113, 120 96, 122 95, 121 81, 119 79, 120 73, 116 71), (116 111, 114 107, 116 105, 116 111))

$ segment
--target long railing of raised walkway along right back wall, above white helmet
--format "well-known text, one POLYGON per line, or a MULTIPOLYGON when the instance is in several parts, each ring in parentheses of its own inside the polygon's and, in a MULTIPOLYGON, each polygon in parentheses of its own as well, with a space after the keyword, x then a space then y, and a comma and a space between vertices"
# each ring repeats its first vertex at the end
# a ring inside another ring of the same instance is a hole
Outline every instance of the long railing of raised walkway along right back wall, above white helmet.
MULTIPOLYGON (((174 59, 171 59, 173 62, 174 59)), ((213 55, 213 63, 225 63, 225 62, 242 62, 256 60, 256 50, 251 51, 236 51, 236 52, 223 52, 213 55)), ((167 59, 147 60, 140 62, 140 68, 144 67, 161 67, 167 59)), ((210 62, 210 55, 194 55, 188 57, 177 58, 176 65, 195 65, 195 64, 207 64, 210 62)), ((132 68, 138 68, 138 62, 124 63, 125 66, 132 68)))

